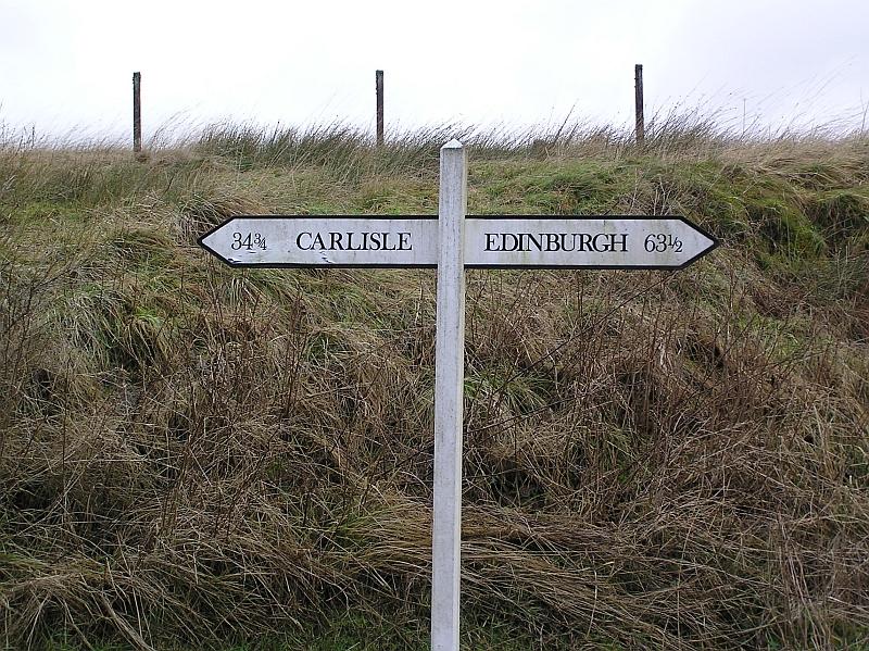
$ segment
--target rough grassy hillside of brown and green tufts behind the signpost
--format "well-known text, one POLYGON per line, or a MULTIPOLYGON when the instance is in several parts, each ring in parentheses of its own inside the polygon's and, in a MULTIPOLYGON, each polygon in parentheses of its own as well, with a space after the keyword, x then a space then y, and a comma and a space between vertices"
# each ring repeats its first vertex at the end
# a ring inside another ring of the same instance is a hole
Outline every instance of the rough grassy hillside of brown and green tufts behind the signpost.
MULTIPOLYGON (((0 149, 0 643, 426 647, 434 273, 196 238, 434 213, 446 136, 0 149)), ((869 648, 869 141, 467 140, 470 213, 722 246, 468 272, 463 643, 869 648)))

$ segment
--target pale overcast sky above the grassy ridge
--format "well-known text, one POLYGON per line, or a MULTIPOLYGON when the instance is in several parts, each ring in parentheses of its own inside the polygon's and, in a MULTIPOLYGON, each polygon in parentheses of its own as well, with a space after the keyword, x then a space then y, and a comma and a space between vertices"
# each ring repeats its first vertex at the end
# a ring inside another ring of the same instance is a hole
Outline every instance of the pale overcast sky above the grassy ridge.
MULTIPOLYGON (((869 109, 867 0, 0 0, 0 123, 125 135, 142 74, 146 137, 165 125, 336 118, 387 130, 629 124, 700 108, 772 128, 869 109)), ((867 121, 869 127, 869 121, 867 121)))

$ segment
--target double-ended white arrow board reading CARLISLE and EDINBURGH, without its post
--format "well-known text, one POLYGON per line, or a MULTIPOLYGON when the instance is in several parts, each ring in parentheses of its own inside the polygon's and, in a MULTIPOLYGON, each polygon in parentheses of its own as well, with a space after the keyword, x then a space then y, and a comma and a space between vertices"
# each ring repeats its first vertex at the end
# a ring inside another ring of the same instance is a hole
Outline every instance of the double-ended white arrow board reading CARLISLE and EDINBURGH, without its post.
MULTIPOLYGON (((237 216, 199 243, 232 266, 437 266, 436 216, 237 216)), ((718 246, 684 217, 465 218, 465 266, 681 268, 718 246)))

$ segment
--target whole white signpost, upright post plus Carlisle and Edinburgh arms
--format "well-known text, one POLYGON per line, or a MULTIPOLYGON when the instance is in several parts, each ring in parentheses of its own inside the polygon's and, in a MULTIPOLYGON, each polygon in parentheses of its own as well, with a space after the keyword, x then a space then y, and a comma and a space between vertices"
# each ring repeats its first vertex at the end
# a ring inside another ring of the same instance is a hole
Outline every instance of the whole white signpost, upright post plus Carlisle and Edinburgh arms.
POLYGON ((437 267, 431 648, 458 651, 465 268, 669 268, 718 246, 683 217, 466 216, 467 154, 441 148, 439 216, 237 216, 199 243, 239 267, 437 267))

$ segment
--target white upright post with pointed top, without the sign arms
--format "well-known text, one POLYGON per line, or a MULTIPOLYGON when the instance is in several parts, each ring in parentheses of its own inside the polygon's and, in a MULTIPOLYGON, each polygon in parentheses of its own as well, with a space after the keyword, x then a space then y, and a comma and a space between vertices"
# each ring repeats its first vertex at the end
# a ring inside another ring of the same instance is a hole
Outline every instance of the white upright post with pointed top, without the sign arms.
POLYGON ((465 213, 467 154, 441 148, 438 200, 438 331, 434 348, 434 513, 431 648, 458 651, 462 572, 462 420, 465 384, 465 213))

